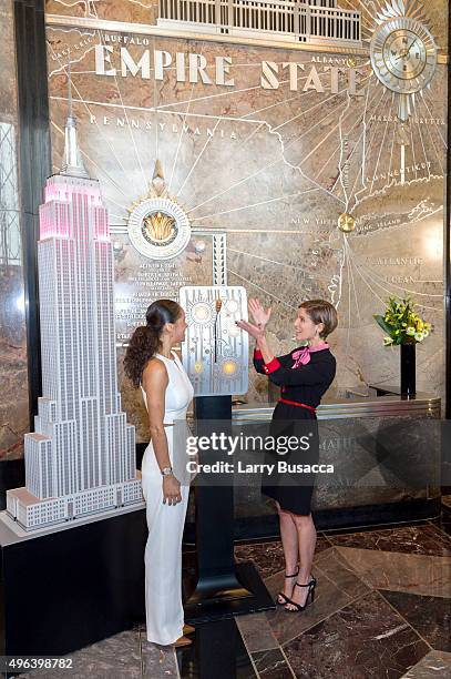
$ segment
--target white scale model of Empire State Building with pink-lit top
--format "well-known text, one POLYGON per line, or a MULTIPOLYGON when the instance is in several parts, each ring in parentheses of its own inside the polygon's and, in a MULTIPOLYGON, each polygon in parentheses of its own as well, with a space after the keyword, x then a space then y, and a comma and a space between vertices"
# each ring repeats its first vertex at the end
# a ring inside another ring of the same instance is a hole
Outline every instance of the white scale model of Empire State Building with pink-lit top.
POLYGON ((142 506, 135 429, 117 391, 113 250, 99 182, 71 111, 64 164, 45 184, 38 243, 42 391, 25 435, 25 487, 7 513, 25 530, 142 506))

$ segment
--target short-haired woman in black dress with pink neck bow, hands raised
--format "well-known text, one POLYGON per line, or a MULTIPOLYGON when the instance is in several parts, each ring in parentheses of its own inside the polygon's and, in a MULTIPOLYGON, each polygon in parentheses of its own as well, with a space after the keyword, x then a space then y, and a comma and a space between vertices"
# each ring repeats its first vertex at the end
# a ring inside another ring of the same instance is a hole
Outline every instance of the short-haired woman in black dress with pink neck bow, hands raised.
MULTIPOLYGON (((311 465, 319 455, 316 408, 336 373, 336 361, 325 340, 337 327, 337 312, 325 300, 303 302, 295 321, 296 340, 308 344, 276 358, 266 337, 270 308, 265 311, 258 300, 249 300, 249 311, 255 324, 239 321, 237 325, 257 341, 256 371, 266 374, 281 392, 273 414, 271 434, 276 437, 305 435, 308 429, 312 434, 309 449, 290 453, 285 459, 288 464, 311 465)), ((304 610, 309 595, 314 600, 316 586, 311 577, 316 529, 310 510, 315 477, 301 476, 301 485, 294 482, 293 475, 279 474, 266 478, 262 487, 263 493, 276 501, 280 520, 286 575, 277 604, 290 611, 304 610)))

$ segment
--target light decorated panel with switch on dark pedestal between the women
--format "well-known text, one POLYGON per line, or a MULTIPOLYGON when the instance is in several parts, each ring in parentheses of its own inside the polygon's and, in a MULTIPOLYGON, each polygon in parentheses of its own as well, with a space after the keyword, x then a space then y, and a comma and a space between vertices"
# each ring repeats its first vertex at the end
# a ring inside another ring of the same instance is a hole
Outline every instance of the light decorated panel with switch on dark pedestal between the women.
MULTIPOLYGON (((232 434, 232 395, 248 387, 247 318, 240 286, 185 286, 181 305, 188 327, 183 363, 194 385, 195 435, 232 434)), ((199 452, 199 463, 224 460, 226 450, 199 452)), ((250 563, 234 561, 234 485, 221 475, 195 479, 197 584, 185 601, 185 619, 206 622, 270 610, 273 598, 250 563)))

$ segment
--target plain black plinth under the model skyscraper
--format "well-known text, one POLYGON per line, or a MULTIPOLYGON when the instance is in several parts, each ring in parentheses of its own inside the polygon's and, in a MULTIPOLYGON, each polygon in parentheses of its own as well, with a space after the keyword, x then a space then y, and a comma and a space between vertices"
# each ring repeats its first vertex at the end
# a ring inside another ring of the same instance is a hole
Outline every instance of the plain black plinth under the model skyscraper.
POLYGON ((145 620, 145 510, 71 526, 21 538, 0 521, 3 655, 62 656, 145 620))

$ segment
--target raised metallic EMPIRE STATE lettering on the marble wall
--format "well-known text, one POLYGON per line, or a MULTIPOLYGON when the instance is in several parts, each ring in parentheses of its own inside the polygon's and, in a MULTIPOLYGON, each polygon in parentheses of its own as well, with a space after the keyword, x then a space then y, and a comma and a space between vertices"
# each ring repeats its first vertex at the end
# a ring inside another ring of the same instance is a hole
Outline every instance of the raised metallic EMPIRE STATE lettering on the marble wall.
MULTIPOLYGON (((359 97, 359 70, 340 67, 298 63, 284 61, 262 61, 259 85, 264 90, 278 90, 280 85, 288 85, 289 90, 297 92, 339 92, 340 75, 345 88, 353 97, 359 97), (320 67, 319 67, 320 68, 320 67)), ((216 84, 225 88, 235 85, 235 78, 230 74, 232 57, 213 57, 208 62, 204 54, 175 52, 166 50, 143 50, 139 55, 131 54, 127 48, 114 48, 109 44, 95 45, 95 73, 122 78, 143 78, 150 80, 164 80, 171 71, 175 71, 177 82, 216 84)))

